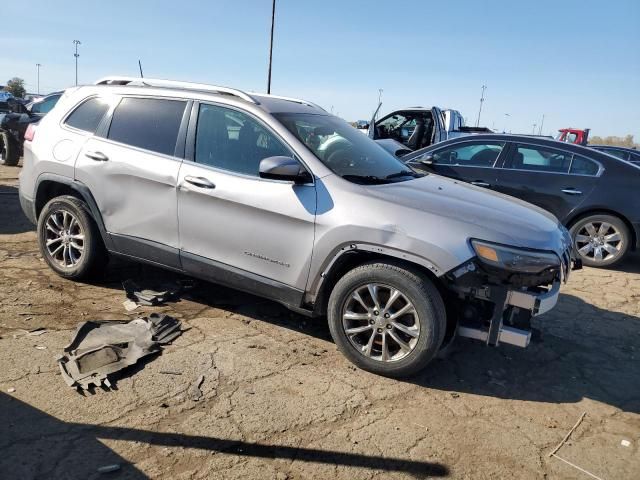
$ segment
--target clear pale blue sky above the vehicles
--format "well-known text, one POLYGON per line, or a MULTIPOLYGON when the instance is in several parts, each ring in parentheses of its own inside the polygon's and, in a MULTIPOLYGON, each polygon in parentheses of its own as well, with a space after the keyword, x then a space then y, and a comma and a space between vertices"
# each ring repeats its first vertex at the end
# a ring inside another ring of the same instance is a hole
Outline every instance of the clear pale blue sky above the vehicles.
MULTIPOLYGON (((36 90, 110 74, 266 89, 271 0, 4 2, 0 83, 36 90), (7 26, 9 25, 9 26, 7 26)), ((474 125, 590 127, 640 141, 640 1, 277 0, 272 93, 368 119, 455 108, 474 125), (508 114, 508 115, 507 115, 508 114)))

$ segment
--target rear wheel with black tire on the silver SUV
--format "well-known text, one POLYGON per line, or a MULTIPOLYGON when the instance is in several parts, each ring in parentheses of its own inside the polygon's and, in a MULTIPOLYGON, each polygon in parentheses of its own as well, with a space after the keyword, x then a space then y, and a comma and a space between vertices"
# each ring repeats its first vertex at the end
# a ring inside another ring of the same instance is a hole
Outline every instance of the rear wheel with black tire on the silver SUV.
POLYGON ((109 258, 86 203, 69 195, 50 200, 40 212, 38 245, 49 267, 73 280, 101 273, 109 258))

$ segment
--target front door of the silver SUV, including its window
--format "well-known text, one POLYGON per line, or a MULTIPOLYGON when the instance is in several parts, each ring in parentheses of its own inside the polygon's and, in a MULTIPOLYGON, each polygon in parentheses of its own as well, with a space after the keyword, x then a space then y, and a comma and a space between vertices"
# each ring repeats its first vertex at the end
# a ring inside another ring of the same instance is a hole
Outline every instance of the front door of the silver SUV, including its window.
POLYGON ((304 289, 313 250, 315 186, 260 178, 260 161, 276 155, 295 157, 252 115, 208 103, 194 107, 178 179, 187 271, 222 276, 224 283, 257 293, 267 283, 304 289))

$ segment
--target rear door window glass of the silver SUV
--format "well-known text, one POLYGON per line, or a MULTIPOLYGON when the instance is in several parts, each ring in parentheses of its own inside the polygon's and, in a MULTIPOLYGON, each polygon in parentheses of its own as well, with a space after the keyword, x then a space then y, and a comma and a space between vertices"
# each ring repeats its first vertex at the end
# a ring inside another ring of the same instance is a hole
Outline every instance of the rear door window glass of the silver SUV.
POLYGON ((116 107, 107 138, 164 155, 174 155, 186 102, 123 98, 116 107))

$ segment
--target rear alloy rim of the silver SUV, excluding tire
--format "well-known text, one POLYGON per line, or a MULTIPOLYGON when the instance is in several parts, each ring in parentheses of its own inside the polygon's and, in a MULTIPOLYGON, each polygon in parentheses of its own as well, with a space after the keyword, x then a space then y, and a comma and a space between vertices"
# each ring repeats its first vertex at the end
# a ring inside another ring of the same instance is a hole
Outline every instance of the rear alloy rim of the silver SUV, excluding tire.
POLYGON ((64 268, 76 266, 85 245, 78 219, 67 210, 56 210, 49 214, 45 228, 45 247, 51 258, 64 268))

